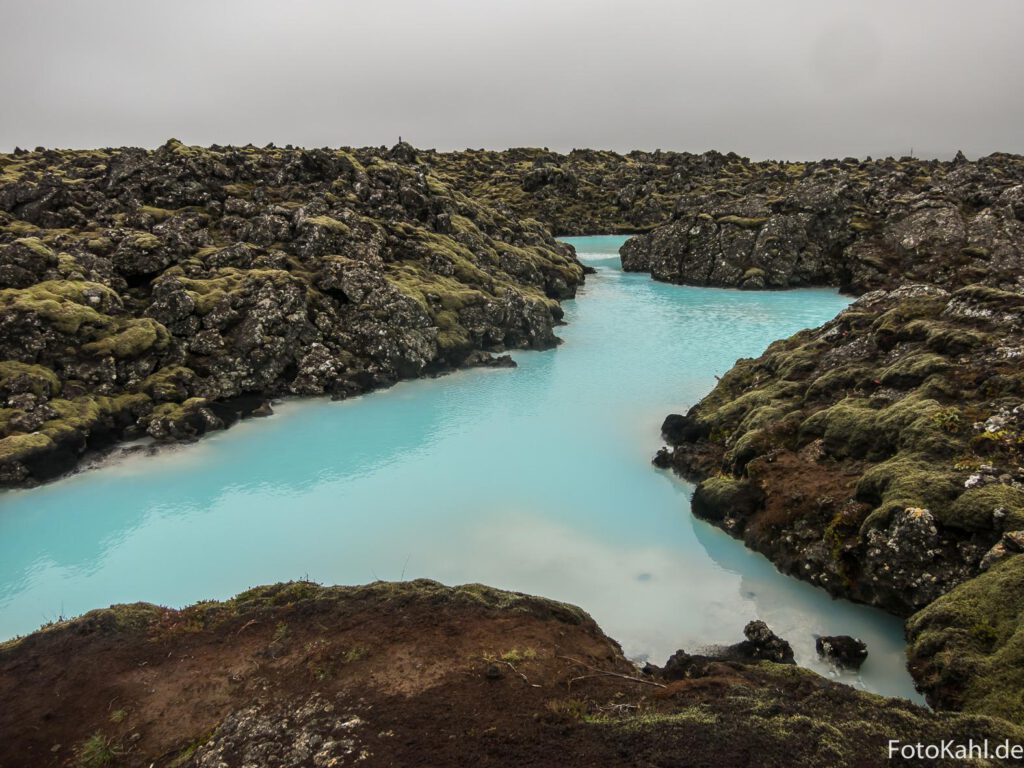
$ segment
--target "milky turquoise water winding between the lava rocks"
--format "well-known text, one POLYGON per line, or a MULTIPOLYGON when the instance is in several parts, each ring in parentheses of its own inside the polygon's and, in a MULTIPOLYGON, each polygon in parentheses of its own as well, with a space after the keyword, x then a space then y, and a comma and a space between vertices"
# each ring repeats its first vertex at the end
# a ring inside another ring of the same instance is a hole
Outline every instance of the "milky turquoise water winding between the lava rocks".
POLYGON ((650 465, 666 414, 847 301, 654 283, 620 270, 622 241, 572 241, 598 272, 565 303, 565 343, 516 353, 518 369, 289 401, 197 444, 0 496, 0 638, 113 602, 427 577, 577 603, 658 664, 761 617, 827 672, 813 635, 852 634, 870 656, 847 680, 913 695, 897 620, 779 574, 694 520, 691 486, 650 465))

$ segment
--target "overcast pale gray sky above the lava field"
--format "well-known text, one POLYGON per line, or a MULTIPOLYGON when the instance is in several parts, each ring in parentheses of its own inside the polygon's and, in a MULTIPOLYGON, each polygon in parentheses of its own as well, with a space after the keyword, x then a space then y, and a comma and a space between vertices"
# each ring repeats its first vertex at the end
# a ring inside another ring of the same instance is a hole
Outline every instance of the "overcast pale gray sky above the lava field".
POLYGON ((0 0, 0 151, 1024 152, 1024 0, 0 0))

